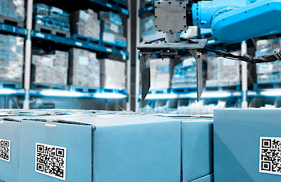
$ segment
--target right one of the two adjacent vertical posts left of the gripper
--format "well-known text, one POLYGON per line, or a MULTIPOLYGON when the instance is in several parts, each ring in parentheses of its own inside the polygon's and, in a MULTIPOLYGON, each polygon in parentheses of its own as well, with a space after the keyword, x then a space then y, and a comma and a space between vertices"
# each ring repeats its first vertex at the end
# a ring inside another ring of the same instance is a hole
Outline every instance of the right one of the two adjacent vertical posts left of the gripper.
MULTIPOLYGON (((139 43, 141 43, 141 18, 140 15, 138 13, 138 10, 141 8, 141 1, 137 0, 136 1, 136 45, 138 45, 139 43)), ((138 94, 140 92, 140 72, 141 72, 141 62, 140 59, 138 59, 138 50, 136 50, 136 94, 135 94, 135 98, 136 98, 136 112, 138 112, 138 107, 139 107, 139 103, 138 103, 138 94)))

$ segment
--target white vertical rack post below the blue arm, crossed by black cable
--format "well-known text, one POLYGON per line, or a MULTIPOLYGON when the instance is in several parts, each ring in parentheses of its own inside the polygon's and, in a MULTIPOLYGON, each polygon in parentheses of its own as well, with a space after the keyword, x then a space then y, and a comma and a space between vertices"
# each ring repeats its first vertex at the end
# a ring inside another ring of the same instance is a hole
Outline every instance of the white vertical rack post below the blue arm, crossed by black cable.
MULTIPOLYGON (((247 42, 243 41, 241 44, 241 53, 247 53, 247 42)), ((248 90, 248 69, 247 69, 247 62, 242 62, 242 108, 247 108, 247 90, 248 90)))

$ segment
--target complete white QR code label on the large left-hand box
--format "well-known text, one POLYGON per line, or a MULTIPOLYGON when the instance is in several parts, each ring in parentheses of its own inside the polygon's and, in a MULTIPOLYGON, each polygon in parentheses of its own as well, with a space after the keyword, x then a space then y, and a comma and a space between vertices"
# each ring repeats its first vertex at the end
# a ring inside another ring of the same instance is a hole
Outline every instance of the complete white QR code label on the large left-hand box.
POLYGON ((35 172, 65 181, 66 148, 36 143, 35 172))

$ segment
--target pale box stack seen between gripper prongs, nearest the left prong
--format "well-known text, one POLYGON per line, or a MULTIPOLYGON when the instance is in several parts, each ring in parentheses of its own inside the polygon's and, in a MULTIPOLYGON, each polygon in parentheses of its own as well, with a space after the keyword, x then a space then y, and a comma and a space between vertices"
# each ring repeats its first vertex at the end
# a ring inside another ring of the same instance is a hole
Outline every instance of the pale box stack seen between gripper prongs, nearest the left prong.
POLYGON ((170 58, 150 60, 150 88, 162 89, 171 87, 174 76, 174 60, 170 58))

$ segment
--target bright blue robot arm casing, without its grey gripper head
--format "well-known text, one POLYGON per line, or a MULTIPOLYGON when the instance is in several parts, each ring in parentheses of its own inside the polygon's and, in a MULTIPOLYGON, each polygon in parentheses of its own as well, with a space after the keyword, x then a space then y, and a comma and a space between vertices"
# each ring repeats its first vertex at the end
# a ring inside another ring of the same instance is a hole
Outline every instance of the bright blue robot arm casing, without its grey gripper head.
POLYGON ((212 35, 226 43, 238 43, 281 30, 280 0, 213 0, 193 3, 192 25, 211 29, 212 35))

